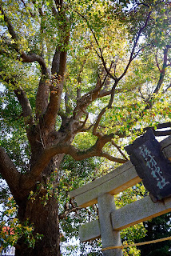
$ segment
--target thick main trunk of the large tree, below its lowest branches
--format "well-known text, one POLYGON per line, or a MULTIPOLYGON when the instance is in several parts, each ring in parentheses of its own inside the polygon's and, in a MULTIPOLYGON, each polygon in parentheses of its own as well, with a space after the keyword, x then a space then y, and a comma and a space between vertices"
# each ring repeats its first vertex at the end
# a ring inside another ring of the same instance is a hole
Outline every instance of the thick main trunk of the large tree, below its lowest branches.
POLYGON ((28 247, 25 238, 20 238, 16 246, 16 256, 60 256, 60 231, 58 218, 58 167, 62 155, 53 158, 43 171, 41 181, 35 186, 34 194, 18 208, 18 218, 23 223, 29 220, 34 224, 34 234, 42 234, 42 239, 34 248, 28 247), (53 175, 53 179, 52 178, 53 175), (48 185, 53 183, 49 190, 48 185))

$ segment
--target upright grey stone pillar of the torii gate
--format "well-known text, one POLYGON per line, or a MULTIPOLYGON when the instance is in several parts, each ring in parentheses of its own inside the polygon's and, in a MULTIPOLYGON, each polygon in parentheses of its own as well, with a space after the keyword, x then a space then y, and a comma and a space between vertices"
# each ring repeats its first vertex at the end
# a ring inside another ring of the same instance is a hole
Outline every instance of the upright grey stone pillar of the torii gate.
MULTIPOLYGON (((97 198, 99 222, 101 229, 102 247, 121 246, 119 231, 114 231, 112 226, 111 212, 116 210, 112 194, 102 194, 97 198)), ((122 256, 121 249, 104 250, 104 256, 122 256)))

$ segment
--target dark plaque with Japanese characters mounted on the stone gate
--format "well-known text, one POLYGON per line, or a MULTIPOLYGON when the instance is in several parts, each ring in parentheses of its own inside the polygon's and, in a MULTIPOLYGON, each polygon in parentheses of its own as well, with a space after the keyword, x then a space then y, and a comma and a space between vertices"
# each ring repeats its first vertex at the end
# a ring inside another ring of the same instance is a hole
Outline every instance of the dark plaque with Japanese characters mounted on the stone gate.
POLYGON ((153 202, 171 196, 171 162, 161 152, 153 130, 147 130, 125 150, 153 202))

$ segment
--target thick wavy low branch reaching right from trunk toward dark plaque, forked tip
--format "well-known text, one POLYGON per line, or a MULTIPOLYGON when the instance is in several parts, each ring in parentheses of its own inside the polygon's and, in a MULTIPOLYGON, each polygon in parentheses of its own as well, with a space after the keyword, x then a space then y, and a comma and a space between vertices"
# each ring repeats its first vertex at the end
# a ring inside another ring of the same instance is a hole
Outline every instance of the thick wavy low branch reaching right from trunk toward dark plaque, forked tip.
POLYGON ((107 142, 111 142, 113 137, 114 134, 107 134, 101 138, 97 138, 97 142, 88 150, 78 150, 73 145, 67 145, 67 143, 58 143, 56 146, 44 149, 42 153, 40 153, 38 161, 35 163, 32 170, 30 170, 30 173, 22 174, 22 178, 20 179, 20 186, 23 188, 25 187, 27 190, 33 187, 35 182, 38 182, 42 171, 48 165, 51 158, 57 154, 70 154, 70 156, 77 161, 98 156, 108 158, 114 162, 126 162, 125 159, 114 158, 108 153, 102 151, 102 148, 105 146, 105 144, 107 142))

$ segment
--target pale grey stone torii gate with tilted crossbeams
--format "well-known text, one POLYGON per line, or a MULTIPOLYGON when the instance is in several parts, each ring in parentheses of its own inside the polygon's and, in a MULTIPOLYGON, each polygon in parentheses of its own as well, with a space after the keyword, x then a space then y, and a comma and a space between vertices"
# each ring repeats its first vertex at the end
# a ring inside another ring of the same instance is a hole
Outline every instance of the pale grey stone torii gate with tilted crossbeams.
MULTIPOLYGON (((161 150, 171 160, 171 136, 161 142, 161 150)), ((80 241, 101 238, 102 248, 121 246, 120 230, 171 211, 171 198, 153 203, 149 196, 116 209, 113 195, 141 182, 132 163, 126 162, 93 182, 70 191, 82 208, 98 204, 99 218, 80 226, 80 241)), ((121 249, 104 250, 104 256, 121 256, 121 249)))

